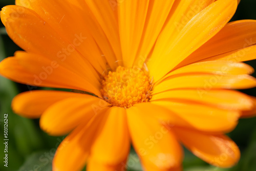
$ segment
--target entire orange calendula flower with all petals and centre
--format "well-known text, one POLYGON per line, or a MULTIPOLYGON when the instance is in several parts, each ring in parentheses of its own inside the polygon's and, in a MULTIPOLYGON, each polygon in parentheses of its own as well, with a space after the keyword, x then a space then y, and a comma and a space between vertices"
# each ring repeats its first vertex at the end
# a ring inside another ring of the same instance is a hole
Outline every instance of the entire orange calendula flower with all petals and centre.
POLYGON ((133 144, 144 170, 182 170, 180 143, 231 167, 238 146, 225 133, 255 114, 256 22, 228 23, 237 0, 18 0, 1 11, 25 51, 1 75, 30 86, 13 110, 66 135, 53 170, 125 170, 133 144))

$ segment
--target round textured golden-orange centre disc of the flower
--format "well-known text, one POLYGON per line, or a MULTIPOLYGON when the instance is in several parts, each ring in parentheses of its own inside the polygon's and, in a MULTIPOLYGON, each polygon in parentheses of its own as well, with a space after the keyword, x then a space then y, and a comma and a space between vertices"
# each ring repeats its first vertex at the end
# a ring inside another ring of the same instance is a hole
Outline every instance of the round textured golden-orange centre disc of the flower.
POLYGON ((102 79, 100 90, 113 106, 131 108, 136 103, 151 99, 152 83, 147 73, 134 68, 117 67, 102 79))

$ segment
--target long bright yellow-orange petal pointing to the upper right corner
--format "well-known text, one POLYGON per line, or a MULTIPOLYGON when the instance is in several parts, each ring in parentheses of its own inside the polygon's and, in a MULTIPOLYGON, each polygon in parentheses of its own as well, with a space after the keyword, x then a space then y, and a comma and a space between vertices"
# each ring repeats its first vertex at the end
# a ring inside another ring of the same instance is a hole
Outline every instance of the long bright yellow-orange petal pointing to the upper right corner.
POLYGON ((169 41, 164 52, 153 51, 147 65, 154 79, 159 80, 217 34, 236 12, 236 8, 236 0, 219 0, 210 4, 193 17, 173 41, 169 41))

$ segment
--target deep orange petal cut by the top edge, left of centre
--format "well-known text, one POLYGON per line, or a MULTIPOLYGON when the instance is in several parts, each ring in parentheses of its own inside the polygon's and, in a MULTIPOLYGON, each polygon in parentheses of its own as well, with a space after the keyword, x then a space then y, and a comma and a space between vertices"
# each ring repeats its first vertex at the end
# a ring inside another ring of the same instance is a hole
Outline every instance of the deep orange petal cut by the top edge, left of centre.
MULTIPOLYGON (((106 69, 106 60, 104 56, 102 56, 98 45, 90 33, 90 28, 95 28, 95 26, 91 21, 92 18, 88 17, 86 10, 83 10, 84 2, 80 0, 66 1, 65 3, 60 0, 23 0, 19 2, 19 5, 34 10, 52 28, 58 30, 61 37, 73 44, 79 54, 83 58, 86 58, 99 73, 102 73, 106 69), (78 4, 80 8, 77 6, 78 4), (79 23, 79 25, 77 25, 77 23, 79 23), (76 35, 81 35, 81 37, 86 38, 82 39, 83 41, 80 42, 80 39, 77 39, 76 35)), ((100 29, 94 29, 94 32, 101 35, 103 39, 104 35, 100 33, 100 29)), ((105 46, 107 46, 107 44, 105 46)))

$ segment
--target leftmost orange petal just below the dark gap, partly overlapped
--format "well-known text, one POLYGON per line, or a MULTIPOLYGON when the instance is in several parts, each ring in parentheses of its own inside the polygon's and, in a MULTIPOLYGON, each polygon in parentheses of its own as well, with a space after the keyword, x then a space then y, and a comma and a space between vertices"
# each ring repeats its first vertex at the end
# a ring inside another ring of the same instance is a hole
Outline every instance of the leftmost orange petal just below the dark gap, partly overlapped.
POLYGON ((23 117, 39 118, 52 104, 70 97, 83 97, 83 94, 35 90, 20 93, 12 100, 12 109, 23 117))

